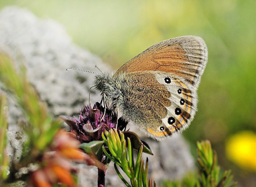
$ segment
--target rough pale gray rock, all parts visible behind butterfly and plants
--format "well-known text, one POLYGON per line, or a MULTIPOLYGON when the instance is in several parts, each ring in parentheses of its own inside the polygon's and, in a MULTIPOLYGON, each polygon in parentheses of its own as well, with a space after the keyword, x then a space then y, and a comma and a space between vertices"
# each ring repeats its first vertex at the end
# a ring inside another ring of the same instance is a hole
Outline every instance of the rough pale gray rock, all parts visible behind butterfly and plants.
MULTIPOLYGON (((30 82, 38 90, 41 100, 47 102, 49 112, 55 116, 76 115, 83 104, 88 103, 88 90, 94 82, 93 74, 66 71, 66 68, 79 67, 97 72, 97 65, 104 71, 110 69, 97 56, 74 45, 56 21, 38 19, 29 10, 14 6, 0 12, 0 51, 9 54, 17 67, 20 61, 26 65, 30 82)), ((99 95, 92 91, 90 100, 91 103, 99 101, 99 95)), ((22 112, 12 98, 9 98, 9 111, 12 111, 9 112, 9 131, 18 130, 16 124, 23 120, 22 112)), ((131 126, 133 128, 136 127, 131 126)), ((149 175, 153 179, 182 178, 194 168, 189 146, 181 135, 163 142, 148 139, 142 134, 141 137, 155 154, 148 156, 149 175)), ((15 142, 13 138, 15 136, 10 137, 10 141, 15 142)), ((81 186, 96 186, 97 170, 83 165, 79 167, 81 186)), ((112 165, 106 174, 106 186, 125 186, 112 165)))

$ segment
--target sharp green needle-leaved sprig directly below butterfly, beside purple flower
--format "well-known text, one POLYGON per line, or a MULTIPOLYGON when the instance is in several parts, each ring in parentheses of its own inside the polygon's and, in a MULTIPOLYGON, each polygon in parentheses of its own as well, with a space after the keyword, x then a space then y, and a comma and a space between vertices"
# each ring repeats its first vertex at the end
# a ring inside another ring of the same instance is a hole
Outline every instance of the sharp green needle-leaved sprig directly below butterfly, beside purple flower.
POLYGON ((102 149, 106 156, 109 157, 113 162, 115 162, 115 169, 116 173, 118 173, 119 177, 122 179, 122 181, 127 186, 138 186, 138 187, 147 187, 148 185, 153 185, 152 181, 147 181, 147 171, 148 171, 148 159, 145 164, 144 168, 144 161, 141 159, 141 155, 143 153, 144 144, 142 144, 141 141, 138 141, 138 137, 135 133, 126 133, 128 134, 127 137, 125 137, 125 134, 121 131, 118 131, 113 129, 109 132, 105 132, 105 135, 102 134, 102 138, 108 146, 109 152, 111 155, 106 152, 104 146, 102 146, 102 149), (139 142, 136 146, 140 145, 137 152, 137 159, 134 163, 134 157, 133 157, 133 146, 134 144, 131 142, 130 137, 132 140, 135 140, 139 142), (126 146, 126 142, 128 145, 126 146), (116 144, 115 146, 113 144, 116 144), (116 149, 116 150, 115 150, 116 149), (119 155, 119 152, 122 154, 119 155), (128 160, 129 159, 129 160, 128 160), (122 174, 120 174, 117 166, 118 165, 127 175, 127 177, 130 178, 130 184, 125 181, 122 174))

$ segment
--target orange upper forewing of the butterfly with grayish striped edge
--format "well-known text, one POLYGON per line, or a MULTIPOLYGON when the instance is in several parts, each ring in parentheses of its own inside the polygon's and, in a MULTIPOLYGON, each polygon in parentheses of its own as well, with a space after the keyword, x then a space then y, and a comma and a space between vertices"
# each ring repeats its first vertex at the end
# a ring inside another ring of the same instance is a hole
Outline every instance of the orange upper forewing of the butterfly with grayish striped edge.
POLYGON ((127 61, 115 75, 127 72, 170 72, 197 87, 207 64, 208 50, 198 36, 181 36, 159 42, 127 61))

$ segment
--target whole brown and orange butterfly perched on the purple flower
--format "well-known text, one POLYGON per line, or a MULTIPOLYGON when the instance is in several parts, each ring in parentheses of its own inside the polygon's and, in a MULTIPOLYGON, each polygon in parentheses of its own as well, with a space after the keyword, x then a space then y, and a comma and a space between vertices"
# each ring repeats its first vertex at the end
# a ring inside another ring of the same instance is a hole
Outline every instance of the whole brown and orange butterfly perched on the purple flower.
POLYGON ((113 75, 97 75, 95 87, 123 119, 162 140, 193 120, 207 60, 202 38, 172 38, 144 50, 113 75))

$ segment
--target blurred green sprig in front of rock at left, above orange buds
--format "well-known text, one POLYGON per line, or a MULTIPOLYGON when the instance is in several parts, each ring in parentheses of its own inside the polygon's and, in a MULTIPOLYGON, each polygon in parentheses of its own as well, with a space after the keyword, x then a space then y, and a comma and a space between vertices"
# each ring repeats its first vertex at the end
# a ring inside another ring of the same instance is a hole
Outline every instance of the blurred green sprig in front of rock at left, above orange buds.
POLYGON ((52 117, 47 113, 47 105, 40 100, 37 90, 27 79, 24 65, 20 65, 20 71, 17 72, 13 61, 2 53, 0 53, 0 79, 6 90, 17 98, 17 104, 23 109, 24 116, 27 118, 28 123, 23 126, 27 142, 23 146, 24 149, 33 150, 33 153, 23 152, 20 161, 30 160, 46 148, 54 138, 55 130, 61 125, 52 123, 52 117))

